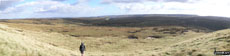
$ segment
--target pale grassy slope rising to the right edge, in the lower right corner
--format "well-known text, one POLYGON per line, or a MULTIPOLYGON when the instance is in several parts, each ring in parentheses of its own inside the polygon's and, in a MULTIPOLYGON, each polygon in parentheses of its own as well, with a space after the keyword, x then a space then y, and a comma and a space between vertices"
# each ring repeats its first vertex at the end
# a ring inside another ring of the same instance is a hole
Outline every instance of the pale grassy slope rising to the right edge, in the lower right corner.
POLYGON ((230 51, 229 46, 230 29, 225 29, 174 44, 160 55, 214 56, 214 48, 217 51, 230 51))

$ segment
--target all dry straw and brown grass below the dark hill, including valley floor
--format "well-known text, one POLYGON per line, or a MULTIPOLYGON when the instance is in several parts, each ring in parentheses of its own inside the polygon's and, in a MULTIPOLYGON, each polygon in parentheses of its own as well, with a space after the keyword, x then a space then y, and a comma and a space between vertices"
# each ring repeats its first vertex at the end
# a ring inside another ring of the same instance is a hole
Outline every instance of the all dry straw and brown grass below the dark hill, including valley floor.
POLYGON ((0 48, 2 56, 79 55, 78 47, 81 42, 86 44, 86 56, 212 56, 211 48, 213 47, 221 47, 219 50, 229 50, 224 48, 228 46, 228 40, 219 39, 217 41, 218 38, 229 36, 229 30, 204 33, 194 32, 192 31, 194 29, 192 29, 184 34, 164 34, 153 29, 185 28, 178 26, 96 27, 58 23, 52 23, 52 25, 33 24, 31 21, 28 22, 1 23, 4 25, 0 26, 6 28, 0 28, 0 33, 5 32, 0 34, 0 36, 4 36, 0 38, 3 41, 0 43, 7 43, 5 46, 0 46, 2 47, 0 48), (141 31, 128 33, 138 30, 141 31), (77 35, 78 37, 71 35, 77 35), (127 36, 129 35, 138 36, 140 39, 128 39, 127 36), (145 37, 152 35, 163 36, 163 38, 145 39, 145 37), (5 49, 5 47, 11 48, 5 49), (20 51, 14 51, 13 49, 20 51), (8 55, 3 51, 11 54, 8 55))

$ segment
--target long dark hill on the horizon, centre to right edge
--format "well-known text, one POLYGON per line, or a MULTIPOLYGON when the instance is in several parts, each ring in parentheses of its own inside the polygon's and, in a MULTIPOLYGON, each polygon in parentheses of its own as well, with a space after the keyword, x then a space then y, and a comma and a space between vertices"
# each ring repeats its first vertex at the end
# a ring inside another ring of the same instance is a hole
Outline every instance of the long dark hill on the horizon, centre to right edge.
POLYGON ((230 27, 230 18, 215 16, 197 16, 183 14, 147 14, 120 15, 91 18, 68 18, 68 23, 80 22, 91 26, 116 27, 154 27, 154 26, 184 26, 221 30, 230 27), (89 20, 90 19, 90 20, 89 20))

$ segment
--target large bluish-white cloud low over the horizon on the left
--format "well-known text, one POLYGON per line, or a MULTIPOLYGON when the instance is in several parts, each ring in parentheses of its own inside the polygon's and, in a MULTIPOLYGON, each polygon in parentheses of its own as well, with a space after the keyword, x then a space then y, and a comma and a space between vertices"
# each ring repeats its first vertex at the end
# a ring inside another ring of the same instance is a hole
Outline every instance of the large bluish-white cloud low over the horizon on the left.
POLYGON ((0 18, 40 18, 94 16, 99 7, 66 4, 59 1, 34 1, 0 11, 0 18))

